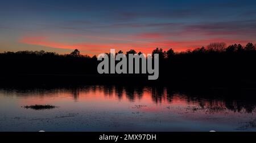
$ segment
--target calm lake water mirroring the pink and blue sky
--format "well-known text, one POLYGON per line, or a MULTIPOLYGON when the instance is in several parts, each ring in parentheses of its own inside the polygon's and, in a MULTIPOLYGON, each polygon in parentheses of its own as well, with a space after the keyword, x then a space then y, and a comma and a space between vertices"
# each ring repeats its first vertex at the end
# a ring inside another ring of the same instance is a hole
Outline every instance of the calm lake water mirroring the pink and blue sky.
POLYGON ((256 131, 254 93, 164 86, 1 88, 0 131, 256 131))

